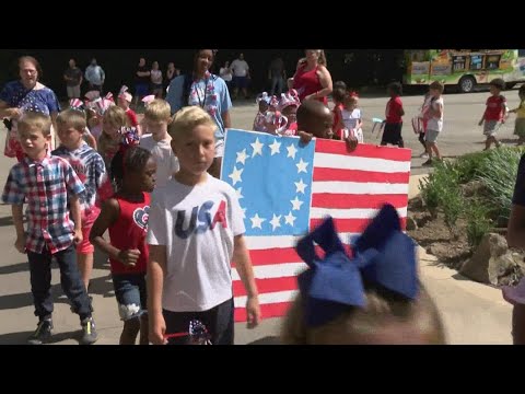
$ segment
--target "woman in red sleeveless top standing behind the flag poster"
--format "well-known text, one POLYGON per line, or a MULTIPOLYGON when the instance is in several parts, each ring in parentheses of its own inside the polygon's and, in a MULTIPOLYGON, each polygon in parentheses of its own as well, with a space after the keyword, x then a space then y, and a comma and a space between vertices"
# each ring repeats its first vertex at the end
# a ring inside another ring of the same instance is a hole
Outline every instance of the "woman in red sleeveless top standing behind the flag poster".
POLYGON ((293 76, 293 89, 298 91, 301 102, 313 99, 328 104, 332 84, 323 49, 306 49, 306 58, 299 61, 293 76))

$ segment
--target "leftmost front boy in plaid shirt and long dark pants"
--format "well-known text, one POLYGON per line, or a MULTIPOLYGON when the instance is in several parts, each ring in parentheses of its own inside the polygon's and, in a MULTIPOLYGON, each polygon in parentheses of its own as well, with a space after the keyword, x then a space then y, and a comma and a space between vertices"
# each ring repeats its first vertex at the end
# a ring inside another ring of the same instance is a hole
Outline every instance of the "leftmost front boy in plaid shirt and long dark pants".
POLYGON ((51 119, 44 114, 28 112, 19 120, 18 132, 25 158, 11 169, 2 200, 12 206, 16 229, 14 245, 20 253, 27 253, 30 260, 31 291, 38 325, 28 343, 39 345, 51 336, 51 258, 55 257, 60 267, 62 289, 81 320, 80 343, 89 345, 97 335, 74 247, 82 242, 79 195, 84 193, 84 186, 66 160, 48 154, 50 130, 51 119), (26 232, 22 218, 24 201, 27 204, 26 232))

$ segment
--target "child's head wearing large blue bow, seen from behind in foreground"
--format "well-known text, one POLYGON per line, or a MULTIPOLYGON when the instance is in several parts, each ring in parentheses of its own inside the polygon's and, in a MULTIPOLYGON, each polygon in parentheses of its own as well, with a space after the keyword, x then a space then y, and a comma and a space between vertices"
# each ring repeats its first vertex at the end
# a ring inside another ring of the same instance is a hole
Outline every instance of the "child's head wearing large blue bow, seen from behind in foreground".
POLYGON ((331 218, 296 250, 310 268, 298 278, 300 294, 282 328, 284 344, 445 344, 438 309, 418 279, 416 245, 390 205, 358 239, 352 257, 331 218))

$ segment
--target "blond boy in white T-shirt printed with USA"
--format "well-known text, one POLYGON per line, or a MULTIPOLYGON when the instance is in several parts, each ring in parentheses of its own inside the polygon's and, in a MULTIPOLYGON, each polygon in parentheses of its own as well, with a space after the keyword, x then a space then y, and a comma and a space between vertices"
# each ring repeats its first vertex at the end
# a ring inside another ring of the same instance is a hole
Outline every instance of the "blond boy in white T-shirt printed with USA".
POLYGON ((213 345, 233 345, 232 260, 246 288, 248 328, 260 318, 238 199, 230 185, 207 173, 214 157, 215 127, 197 106, 179 111, 170 126, 180 169, 152 195, 147 237, 153 344, 166 344, 170 335, 187 333, 190 321, 198 320, 213 345))

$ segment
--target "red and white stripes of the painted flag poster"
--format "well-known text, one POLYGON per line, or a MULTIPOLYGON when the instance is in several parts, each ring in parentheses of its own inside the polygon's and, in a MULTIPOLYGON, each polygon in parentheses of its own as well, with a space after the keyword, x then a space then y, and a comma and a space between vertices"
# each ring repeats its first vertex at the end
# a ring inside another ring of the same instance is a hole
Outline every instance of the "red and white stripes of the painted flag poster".
MULTIPOLYGON (((351 154, 341 141, 317 140, 310 227, 331 216, 348 246, 381 206, 392 204, 405 227, 411 151, 360 144, 351 154)), ((306 189, 307 190, 307 189, 306 189)), ((308 192, 308 190, 307 190, 308 192)), ((262 317, 285 314, 296 293, 296 275, 306 265, 294 251, 300 236, 246 236, 259 289, 262 317)), ((246 321, 246 292, 233 269, 235 321, 246 321)))

